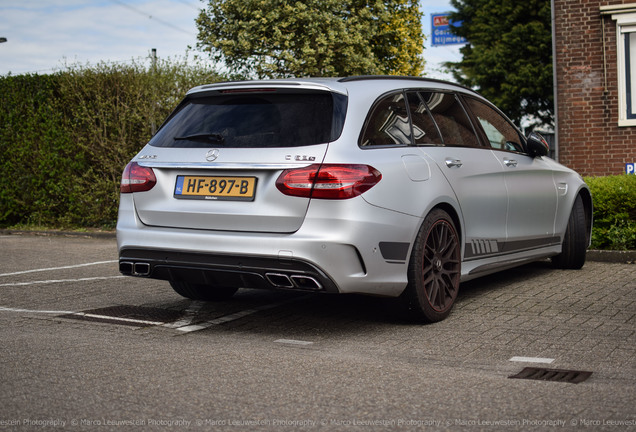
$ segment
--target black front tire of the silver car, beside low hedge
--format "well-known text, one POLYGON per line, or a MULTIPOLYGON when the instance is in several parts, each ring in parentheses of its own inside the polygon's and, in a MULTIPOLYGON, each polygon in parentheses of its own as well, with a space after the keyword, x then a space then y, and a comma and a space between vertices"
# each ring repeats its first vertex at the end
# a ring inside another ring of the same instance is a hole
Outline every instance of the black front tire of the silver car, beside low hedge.
POLYGON ((581 195, 578 195, 574 200, 570 219, 568 219, 561 253, 552 257, 553 267, 575 270, 583 267, 588 244, 586 226, 583 199, 581 195))

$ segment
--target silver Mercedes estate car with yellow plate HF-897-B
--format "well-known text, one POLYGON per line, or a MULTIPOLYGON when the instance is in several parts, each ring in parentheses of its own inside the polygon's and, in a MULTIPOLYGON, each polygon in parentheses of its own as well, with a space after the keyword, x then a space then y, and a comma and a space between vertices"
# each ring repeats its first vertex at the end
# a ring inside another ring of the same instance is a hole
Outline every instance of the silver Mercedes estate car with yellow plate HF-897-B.
POLYGON ((124 170, 119 268, 191 299, 401 296, 439 321, 462 281, 548 257, 583 266, 592 198, 547 154, 443 81, 196 87, 124 170))

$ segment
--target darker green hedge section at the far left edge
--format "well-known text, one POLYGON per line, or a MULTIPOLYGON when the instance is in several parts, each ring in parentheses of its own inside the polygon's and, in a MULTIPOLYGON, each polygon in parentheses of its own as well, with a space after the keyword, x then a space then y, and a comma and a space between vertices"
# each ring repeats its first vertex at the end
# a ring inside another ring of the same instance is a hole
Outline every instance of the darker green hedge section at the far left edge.
POLYGON ((59 82, 59 74, 0 81, 0 221, 29 219, 34 208, 39 219, 53 218, 63 200, 75 155, 58 105, 49 103, 59 82))

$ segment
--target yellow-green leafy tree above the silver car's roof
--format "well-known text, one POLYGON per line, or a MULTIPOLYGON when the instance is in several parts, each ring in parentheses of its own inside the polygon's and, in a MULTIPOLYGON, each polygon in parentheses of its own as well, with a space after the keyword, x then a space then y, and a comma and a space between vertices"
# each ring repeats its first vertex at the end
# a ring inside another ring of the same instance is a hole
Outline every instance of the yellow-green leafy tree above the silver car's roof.
POLYGON ((420 75, 417 0, 208 0, 198 48, 231 73, 420 75))

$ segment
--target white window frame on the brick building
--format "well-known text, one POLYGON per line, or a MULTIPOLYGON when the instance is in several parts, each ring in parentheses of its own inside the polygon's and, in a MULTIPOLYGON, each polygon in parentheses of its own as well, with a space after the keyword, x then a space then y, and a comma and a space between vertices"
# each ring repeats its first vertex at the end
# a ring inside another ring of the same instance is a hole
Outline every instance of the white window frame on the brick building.
POLYGON ((636 126, 636 10, 613 14, 616 21, 618 126, 636 126))

